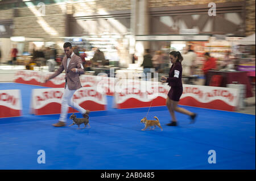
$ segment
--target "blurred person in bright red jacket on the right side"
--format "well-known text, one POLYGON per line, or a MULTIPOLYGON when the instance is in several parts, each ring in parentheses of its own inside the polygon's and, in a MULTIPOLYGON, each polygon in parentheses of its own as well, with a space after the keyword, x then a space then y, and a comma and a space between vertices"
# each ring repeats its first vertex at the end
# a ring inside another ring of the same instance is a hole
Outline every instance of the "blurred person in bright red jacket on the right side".
POLYGON ((204 62, 202 70, 204 72, 204 78, 205 78, 204 85, 207 86, 208 85, 207 73, 209 70, 216 69, 216 59, 214 57, 211 57, 208 52, 204 53, 204 57, 205 57, 205 62, 204 62))

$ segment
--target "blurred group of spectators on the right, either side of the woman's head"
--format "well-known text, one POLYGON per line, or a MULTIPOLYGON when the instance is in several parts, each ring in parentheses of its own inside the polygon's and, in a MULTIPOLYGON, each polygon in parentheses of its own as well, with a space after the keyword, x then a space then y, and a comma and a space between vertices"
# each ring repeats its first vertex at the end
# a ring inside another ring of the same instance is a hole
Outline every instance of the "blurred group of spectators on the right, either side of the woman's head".
MULTIPOLYGON (((161 50, 155 51, 154 55, 151 56, 151 50, 146 49, 143 56, 143 63, 141 66, 143 67, 143 73, 147 75, 147 73, 154 72, 163 73, 165 53, 161 50)), ((183 66, 182 75, 184 78, 195 78, 196 75, 203 75, 205 82, 204 85, 209 85, 208 81, 208 71, 210 70, 238 70, 239 62, 236 59, 232 59, 230 57, 230 53, 226 53, 225 57, 220 61, 219 59, 210 55, 210 52, 205 52, 200 55, 200 59, 203 60, 201 64, 198 64, 197 59, 199 55, 188 46, 187 51, 183 53, 184 60, 181 62, 183 66)), ((169 61, 168 61, 169 62, 169 61)), ((170 62, 169 62, 170 63, 170 62)), ((188 81, 192 83, 192 81, 188 81)))

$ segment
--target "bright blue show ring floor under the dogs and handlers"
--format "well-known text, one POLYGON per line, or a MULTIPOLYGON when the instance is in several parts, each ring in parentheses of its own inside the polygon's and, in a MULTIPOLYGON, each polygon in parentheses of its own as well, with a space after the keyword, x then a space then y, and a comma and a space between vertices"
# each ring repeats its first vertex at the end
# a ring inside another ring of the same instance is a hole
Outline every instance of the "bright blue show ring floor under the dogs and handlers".
POLYGON ((147 117, 157 116, 163 131, 141 131, 148 108, 117 110, 107 96, 108 110, 90 113, 91 128, 55 128, 59 115, 29 113, 31 90, 41 88, 0 83, 21 90, 23 104, 21 117, 0 119, 1 170, 255 170, 255 115, 181 106, 198 113, 196 123, 176 113, 179 126, 167 127, 167 107, 151 107, 147 117), (46 163, 38 163, 38 150, 46 163), (209 150, 216 163, 208 163, 209 150))

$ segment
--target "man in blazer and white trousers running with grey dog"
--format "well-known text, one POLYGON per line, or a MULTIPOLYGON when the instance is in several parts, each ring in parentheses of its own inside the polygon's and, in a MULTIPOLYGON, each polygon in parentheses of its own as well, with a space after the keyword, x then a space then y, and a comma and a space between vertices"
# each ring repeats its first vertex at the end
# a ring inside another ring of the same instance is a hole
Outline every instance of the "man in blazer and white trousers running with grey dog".
POLYGON ((46 78, 46 82, 59 75, 65 70, 65 91, 61 99, 61 114, 59 122, 53 124, 54 127, 64 127, 66 124, 68 106, 75 108, 84 117, 88 117, 90 111, 80 107, 77 103, 72 101, 72 96, 77 89, 80 89, 81 82, 79 79, 80 74, 84 74, 84 67, 82 66, 82 60, 72 51, 72 45, 69 42, 63 45, 65 57, 63 58, 59 69, 52 75, 46 78))

